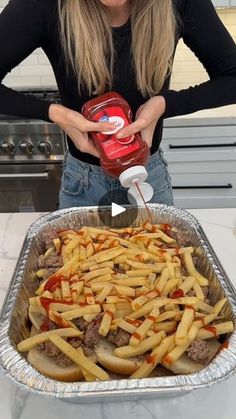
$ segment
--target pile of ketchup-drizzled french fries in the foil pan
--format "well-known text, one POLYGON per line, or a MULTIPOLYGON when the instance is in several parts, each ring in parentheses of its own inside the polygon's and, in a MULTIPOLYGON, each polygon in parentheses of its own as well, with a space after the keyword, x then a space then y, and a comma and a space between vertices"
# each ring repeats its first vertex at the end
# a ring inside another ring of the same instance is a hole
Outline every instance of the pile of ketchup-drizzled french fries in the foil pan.
MULTIPOLYGON (((46 255, 56 249, 63 266, 40 283, 29 302, 31 313, 47 315, 58 329, 22 341, 19 351, 49 340, 81 367, 86 381, 108 380, 107 371, 64 339, 83 337, 74 319, 91 322, 103 313, 100 336, 118 328, 130 333, 129 344, 114 349, 113 355, 122 359, 144 355, 130 376, 144 378, 159 363, 174 364, 194 339, 217 339, 232 332, 233 323, 221 315, 226 299, 214 306, 204 302, 202 288, 209 281, 194 266, 194 248, 179 247, 168 235, 170 229, 145 223, 136 228, 84 226, 58 232, 46 255), (182 274, 181 267, 187 274, 182 274), (194 296, 188 296, 190 290, 194 296)), ((44 273, 38 271, 37 276, 42 278, 44 273)))

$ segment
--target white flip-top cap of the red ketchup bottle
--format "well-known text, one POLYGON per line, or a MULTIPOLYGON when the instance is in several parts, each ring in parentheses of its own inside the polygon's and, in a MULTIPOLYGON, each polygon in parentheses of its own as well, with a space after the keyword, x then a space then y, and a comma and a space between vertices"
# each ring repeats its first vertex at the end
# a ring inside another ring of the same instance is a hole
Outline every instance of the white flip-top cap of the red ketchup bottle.
POLYGON ((149 202, 153 197, 154 192, 152 186, 145 182, 147 177, 148 172, 144 166, 130 167, 121 173, 119 177, 121 185, 124 188, 129 188, 129 194, 135 199, 138 205, 143 205, 143 200, 135 183, 139 185, 145 202, 149 202))

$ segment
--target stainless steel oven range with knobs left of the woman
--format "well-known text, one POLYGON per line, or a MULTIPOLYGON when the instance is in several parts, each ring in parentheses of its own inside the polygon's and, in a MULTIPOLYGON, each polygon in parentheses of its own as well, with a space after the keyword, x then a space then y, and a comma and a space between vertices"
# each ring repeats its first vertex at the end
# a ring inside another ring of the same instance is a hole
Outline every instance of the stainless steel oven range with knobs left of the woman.
MULTIPOLYGON (((27 93, 59 101, 54 91, 27 93)), ((65 150, 57 125, 0 115, 0 212, 56 210, 65 150)))

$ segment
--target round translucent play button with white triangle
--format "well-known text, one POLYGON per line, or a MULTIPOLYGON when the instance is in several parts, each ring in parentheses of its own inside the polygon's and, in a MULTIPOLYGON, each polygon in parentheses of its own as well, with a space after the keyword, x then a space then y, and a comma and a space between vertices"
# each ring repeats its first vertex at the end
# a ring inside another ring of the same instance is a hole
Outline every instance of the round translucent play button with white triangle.
POLYGON ((126 189, 114 189, 100 199, 98 214, 104 226, 119 228, 135 225, 138 207, 131 205, 132 199, 129 198, 126 189))

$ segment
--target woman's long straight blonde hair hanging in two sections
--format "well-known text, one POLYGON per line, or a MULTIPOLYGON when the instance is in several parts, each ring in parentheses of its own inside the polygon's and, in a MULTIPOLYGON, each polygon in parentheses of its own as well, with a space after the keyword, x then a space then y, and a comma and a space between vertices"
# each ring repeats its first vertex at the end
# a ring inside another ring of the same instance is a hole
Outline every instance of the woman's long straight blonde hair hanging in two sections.
MULTIPOLYGON (((58 0, 63 50, 90 95, 111 89, 115 50, 106 8, 100 0, 58 0)), ((172 0, 133 0, 132 58, 143 96, 162 88, 172 67, 176 17, 172 0)))

